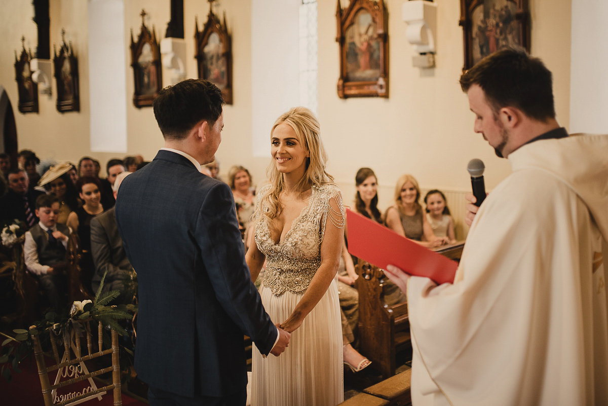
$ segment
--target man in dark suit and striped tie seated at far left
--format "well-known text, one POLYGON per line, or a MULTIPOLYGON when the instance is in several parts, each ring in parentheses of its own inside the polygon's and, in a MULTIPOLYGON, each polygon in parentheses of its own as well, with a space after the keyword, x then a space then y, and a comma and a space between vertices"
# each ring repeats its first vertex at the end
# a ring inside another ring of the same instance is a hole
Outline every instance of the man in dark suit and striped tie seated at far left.
POLYGON ((38 222, 35 215, 36 198, 44 192, 30 190, 29 178, 24 169, 9 171, 9 191, 0 199, 0 220, 18 219, 27 227, 38 222))

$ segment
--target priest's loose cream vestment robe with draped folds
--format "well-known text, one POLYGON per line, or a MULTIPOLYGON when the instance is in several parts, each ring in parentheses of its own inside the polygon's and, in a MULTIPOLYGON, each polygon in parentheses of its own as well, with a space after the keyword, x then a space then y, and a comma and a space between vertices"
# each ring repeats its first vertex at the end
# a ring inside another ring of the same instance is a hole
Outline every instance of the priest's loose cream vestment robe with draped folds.
POLYGON ((608 405, 608 136, 508 159, 454 283, 410 278, 413 405, 608 405))

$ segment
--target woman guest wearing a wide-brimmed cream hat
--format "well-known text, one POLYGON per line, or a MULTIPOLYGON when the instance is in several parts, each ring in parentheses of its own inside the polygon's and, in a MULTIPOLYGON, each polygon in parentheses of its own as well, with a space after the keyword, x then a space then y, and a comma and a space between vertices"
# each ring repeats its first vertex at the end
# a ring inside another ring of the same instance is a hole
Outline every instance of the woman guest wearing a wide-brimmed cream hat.
POLYGON ((58 224, 66 224, 70 213, 78 208, 78 193, 69 175, 72 167, 74 165, 69 162, 58 163, 54 167, 50 167, 38 182, 38 185, 44 187, 47 193, 59 199, 58 224))

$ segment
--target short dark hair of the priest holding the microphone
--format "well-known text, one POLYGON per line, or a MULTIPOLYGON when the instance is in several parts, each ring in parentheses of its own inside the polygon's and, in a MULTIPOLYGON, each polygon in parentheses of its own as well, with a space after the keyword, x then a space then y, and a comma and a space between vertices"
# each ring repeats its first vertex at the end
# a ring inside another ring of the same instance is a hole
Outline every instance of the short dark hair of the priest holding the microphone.
POLYGON ((463 92, 473 84, 482 88, 495 116, 514 107, 541 122, 555 118, 551 71, 523 49, 505 48, 483 58, 460 77, 463 92))

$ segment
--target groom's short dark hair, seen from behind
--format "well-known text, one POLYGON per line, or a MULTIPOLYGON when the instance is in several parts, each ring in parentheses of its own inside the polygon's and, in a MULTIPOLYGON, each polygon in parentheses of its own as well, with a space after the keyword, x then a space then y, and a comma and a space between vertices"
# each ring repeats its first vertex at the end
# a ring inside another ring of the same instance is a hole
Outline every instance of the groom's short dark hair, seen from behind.
POLYGON ((165 139, 184 139, 202 120, 213 126, 224 99, 215 84, 187 79, 162 89, 154 99, 154 117, 165 139))

